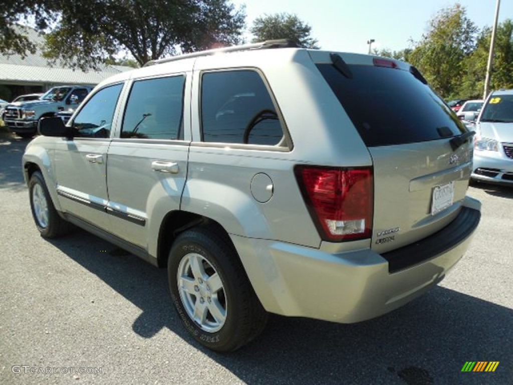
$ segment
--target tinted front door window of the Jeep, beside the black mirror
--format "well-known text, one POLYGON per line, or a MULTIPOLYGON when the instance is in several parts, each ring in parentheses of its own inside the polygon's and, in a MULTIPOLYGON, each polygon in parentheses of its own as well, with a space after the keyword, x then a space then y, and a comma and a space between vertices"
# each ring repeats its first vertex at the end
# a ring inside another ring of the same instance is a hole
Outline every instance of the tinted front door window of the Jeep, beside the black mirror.
POLYGON ((73 127, 76 136, 86 138, 108 138, 117 99, 123 84, 116 84, 96 92, 78 112, 73 127))

